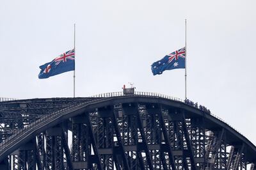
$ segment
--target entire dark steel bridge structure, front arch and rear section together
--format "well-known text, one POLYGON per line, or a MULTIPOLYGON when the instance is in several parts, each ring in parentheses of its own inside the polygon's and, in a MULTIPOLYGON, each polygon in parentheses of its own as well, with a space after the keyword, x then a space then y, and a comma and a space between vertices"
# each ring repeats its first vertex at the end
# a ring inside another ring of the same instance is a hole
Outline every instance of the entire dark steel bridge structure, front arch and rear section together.
POLYGON ((254 169, 256 162, 256 147, 220 118, 157 93, 0 102, 0 116, 0 169, 254 169))

